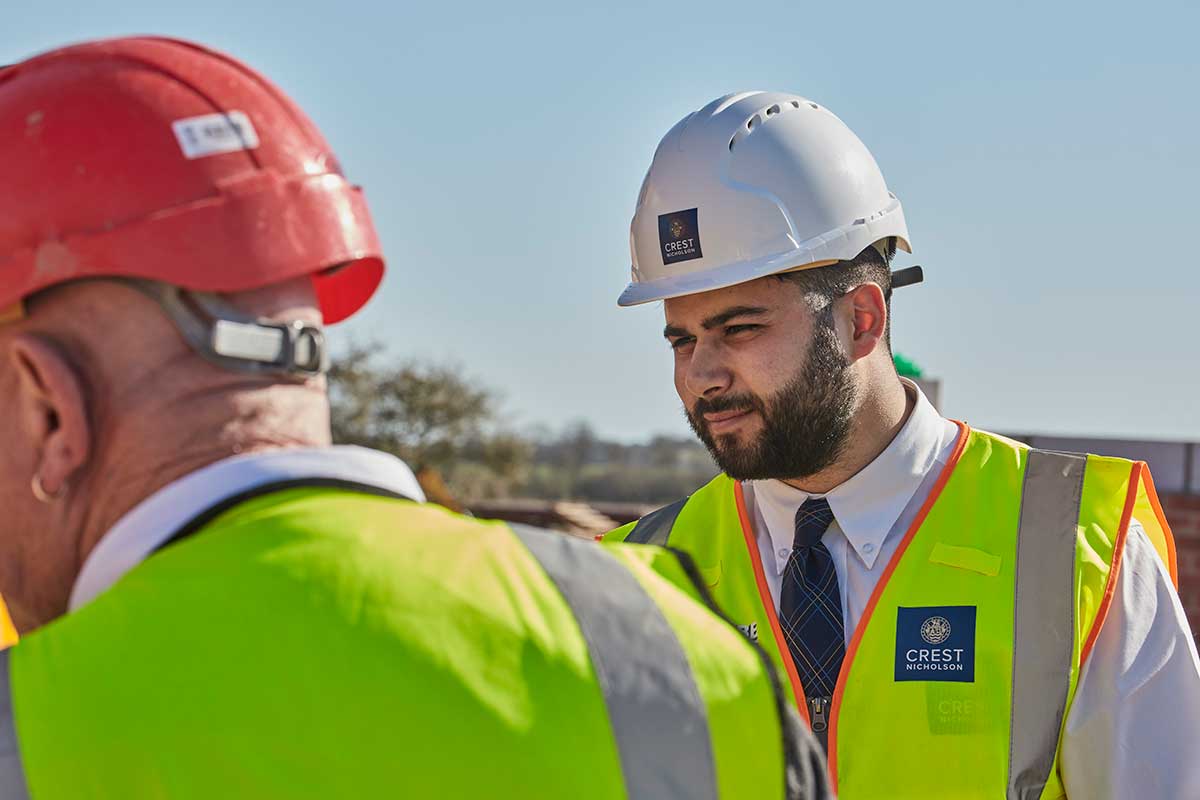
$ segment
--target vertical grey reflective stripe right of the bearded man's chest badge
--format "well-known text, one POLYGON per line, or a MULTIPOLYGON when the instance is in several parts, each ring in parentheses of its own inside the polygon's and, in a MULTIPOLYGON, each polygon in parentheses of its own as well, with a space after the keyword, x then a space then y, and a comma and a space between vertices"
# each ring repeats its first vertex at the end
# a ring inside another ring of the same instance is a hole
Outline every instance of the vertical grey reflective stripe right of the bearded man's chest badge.
POLYGON ((1075 631, 1075 528, 1086 456, 1031 450, 1016 534, 1008 800, 1042 796, 1067 710, 1075 631))

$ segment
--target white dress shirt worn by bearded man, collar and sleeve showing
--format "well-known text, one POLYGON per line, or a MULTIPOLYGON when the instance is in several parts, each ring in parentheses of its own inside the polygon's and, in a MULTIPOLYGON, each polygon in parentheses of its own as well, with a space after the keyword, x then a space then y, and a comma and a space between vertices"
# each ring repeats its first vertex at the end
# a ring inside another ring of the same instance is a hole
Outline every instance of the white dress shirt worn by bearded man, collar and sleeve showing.
MULTIPOLYGON (((937 476, 958 426, 911 381, 917 403, 900 433, 857 475, 823 497, 846 642, 937 476)), ((746 506, 772 600, 810 495, 781 481, 748 481, 746 506)), ((1145 530, 1133 521, 1108 618, 1063 733, 1062 777, 1072 800, 1200 798, 1200 660, 1178 595, 1145 530)))

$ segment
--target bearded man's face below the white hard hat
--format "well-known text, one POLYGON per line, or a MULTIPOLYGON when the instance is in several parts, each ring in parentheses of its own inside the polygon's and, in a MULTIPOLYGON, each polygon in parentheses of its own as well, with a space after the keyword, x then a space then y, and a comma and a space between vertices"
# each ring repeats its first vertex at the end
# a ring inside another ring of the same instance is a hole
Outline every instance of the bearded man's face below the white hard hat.
POLYGON ((828 309, 772 277, 666 306, 676 391, 722 471, 803 479, 838 459, 857 395, 828 309))

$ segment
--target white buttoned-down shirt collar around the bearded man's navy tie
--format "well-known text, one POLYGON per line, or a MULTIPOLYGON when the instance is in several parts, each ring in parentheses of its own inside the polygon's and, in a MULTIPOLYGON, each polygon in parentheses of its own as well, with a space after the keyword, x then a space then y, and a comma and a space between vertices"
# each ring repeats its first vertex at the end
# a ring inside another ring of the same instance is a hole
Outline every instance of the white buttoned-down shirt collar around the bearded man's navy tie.
POLYGON ((859 560, 872 569, 883 540, 905 506, 937 462, 948 426, 937 409, 912 381, 900 379, 916 395, 908 420, 875 461, 826 493, 814 495, 782 481, 755 481, 754 498, 775 549, 792 547, 796 510, 810 497, 824 497, 838 528, 845 534, 859 560))

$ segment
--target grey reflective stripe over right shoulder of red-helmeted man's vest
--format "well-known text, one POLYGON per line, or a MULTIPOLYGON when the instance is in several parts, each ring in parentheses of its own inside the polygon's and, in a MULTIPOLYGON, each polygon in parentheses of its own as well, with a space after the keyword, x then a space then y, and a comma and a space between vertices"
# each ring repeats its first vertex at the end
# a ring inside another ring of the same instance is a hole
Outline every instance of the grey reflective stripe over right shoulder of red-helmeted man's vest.
POLYGON ((580 625, 630 800, 716 800, 708 710, 683 646, 655 602, 602 547, 527 525, 511 528, 580 625))

